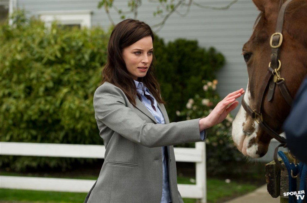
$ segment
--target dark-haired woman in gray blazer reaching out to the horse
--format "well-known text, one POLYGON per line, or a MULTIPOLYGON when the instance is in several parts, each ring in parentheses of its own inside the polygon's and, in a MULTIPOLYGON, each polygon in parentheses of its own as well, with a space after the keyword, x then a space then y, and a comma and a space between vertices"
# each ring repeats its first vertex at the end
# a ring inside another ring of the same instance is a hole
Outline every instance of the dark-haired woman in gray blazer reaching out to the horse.
POLYGON ((153 75, 153 39, 147 24, 132 19, 111 33, 102 85, 94 94, 105 160, 85 202, 183 202, 173 145, 204 141, 205 129, 222 122, 244 93, 229 94, 205 118, 169 123, 153 75))

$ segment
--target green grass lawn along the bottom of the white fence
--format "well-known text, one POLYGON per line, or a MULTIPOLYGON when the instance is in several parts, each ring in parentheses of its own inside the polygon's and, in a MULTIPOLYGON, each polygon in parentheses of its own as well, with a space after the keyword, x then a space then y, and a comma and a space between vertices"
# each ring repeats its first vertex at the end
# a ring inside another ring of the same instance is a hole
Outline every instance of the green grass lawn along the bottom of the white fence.
MULTIPOLYGON (((3 173, 1 175, 14 175, 13 173, 3 173)), ((16 175, 16 174, 15 174, 16 175)), ((49 176, 51 177, 51 176, 49 176)), ((77 177, 81 179, 82 177, 77 177)), ((84 177, 83 177, 84 178, 84 177)), ((95 177, 90 177, 95 179, 95 177)), ((190 181, 191 178, 179 177, 179 184, 194 184, 190 181)), ((245 194, 255 190, 257 186, 250 184, 239 184, 235 182, 225 183, 224 180, 207 179, 207 201, 218 202, 227 197, 245 194)), ((35 203, 82 203, 86 193, 70 193, 70 192, 52 192, 52 191, 33 191, 33 190, 0 190, 0 201, 20 201, 20 202, 35 202, 35 203)), ((185 203, 195 203, 196 199, 184 198, 185 203)))

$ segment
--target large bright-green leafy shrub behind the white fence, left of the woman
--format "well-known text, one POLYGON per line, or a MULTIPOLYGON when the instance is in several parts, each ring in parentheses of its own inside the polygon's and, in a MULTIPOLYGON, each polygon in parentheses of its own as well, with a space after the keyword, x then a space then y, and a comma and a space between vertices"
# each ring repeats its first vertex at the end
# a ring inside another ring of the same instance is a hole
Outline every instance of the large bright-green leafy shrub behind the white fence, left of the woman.
MULTIPOLYGON (((101 28, 45 28, 23 12, 0 30, 1 141, 103 144, 93 94, 106 62, 108 34, 101 28)), ((75 159, 2 157, 1 163, 66 168, 75 159)), ((79 159, 81 161, 82 159, 79 159)))

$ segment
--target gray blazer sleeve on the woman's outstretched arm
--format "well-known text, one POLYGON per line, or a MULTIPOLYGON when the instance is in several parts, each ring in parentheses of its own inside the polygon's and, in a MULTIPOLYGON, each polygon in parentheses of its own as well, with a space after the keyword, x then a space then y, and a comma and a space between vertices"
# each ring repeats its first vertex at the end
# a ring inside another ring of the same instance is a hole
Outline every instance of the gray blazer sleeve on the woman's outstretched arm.
POLYGON ((95 118, 123 137, 146 147, 203 141, 200 138, 199 119, 170 124, 146 122, 127 107, 129 101, 120 88, 110 83, 104 84, 94 94, 95 118))

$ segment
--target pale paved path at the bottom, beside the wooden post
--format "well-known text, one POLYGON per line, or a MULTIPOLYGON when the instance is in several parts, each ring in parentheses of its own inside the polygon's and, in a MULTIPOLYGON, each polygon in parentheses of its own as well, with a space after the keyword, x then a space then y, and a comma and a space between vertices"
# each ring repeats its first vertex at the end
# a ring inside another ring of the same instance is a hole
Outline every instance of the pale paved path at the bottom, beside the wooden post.
POLYGON ((237 197, 224 203, 279 203, 280 197, 273 198, 266 190, 266 184, 251 193, 237 197))

